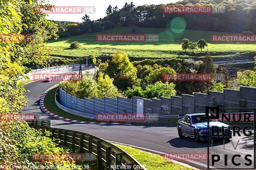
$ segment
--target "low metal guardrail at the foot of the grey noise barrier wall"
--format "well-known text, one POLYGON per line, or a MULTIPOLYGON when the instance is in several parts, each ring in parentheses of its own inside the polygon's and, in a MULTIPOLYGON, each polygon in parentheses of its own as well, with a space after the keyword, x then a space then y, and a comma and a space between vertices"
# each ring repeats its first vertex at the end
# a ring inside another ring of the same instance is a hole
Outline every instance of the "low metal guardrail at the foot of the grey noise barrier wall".
MULTIPOLYGON (((59 90, 59 89, 58 89, 59 90)), ((88 113, 83 113, 79 112, 73 109, 70 109, 68 107, 62 106, 56 99, 56 93, 55 92, 55 103, 56 105, 61 109, 64 110, 65 112, 68 112, 72 115, 88 118, 88 119, 94 119, 96 120, 96 115, 93 114, 88 114, 88 113)), ((107 114, 106 114, 107 115, 107 114)), ((152 119, 152 116, 146 116, 145 121, 125 121, 124 123, 150 123, 150 124, 166 124, 166 123, 176 123, 179 120, 180 115, 170 115, 170 116, 157 116, 158 120, 152 119), (150 120, 152 119, 152 120, 150 120)), ((111 121, 111 122, 117 122, 117 121, 111 121)))

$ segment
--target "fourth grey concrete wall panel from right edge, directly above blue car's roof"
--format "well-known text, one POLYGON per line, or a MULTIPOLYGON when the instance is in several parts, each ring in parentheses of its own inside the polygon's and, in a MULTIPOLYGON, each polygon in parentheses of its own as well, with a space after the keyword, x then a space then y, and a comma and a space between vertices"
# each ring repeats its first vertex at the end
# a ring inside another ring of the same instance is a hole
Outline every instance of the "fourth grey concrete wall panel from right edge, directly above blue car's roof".
POLYGON ((195 113, 205 113, 205 106, 209 105, 209 96, 204 93, 194 93, 195 113))

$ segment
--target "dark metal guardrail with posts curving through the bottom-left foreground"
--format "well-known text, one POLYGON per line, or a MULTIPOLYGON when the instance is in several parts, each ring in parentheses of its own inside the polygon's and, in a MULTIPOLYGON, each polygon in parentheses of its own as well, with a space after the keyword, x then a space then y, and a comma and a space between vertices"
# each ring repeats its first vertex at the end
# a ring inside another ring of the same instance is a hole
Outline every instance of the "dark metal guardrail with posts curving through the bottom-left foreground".
MULTIPOLYGON (((42 122, 45 123, 46 121, 42 122)), ((140 162, 134 159, 130 154, 102 138, 73 130, 50 128, 45 126, 30 126, 35 129, 44 129, 51 131, 52 135, 50 137, 52 139, 60 139, 61 144, 63 144, 64 146, 70 146, 73 150, 79 149, 80 153, 95 154, 99 170, 118 169, 113 168, 115 166, 112 166, 111 168, 111 165, 119 165, 119 167, 123 168, 127 168, 129 167, 128 165, 130 165, 132 167, 131 169, 133 170, 147 170, 143 165, 140 164, 140 162)), ((129 170, 131 169, 129 168, 129 170)), ((119 168, 119 170, 124 169, 119 168)))

